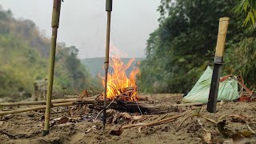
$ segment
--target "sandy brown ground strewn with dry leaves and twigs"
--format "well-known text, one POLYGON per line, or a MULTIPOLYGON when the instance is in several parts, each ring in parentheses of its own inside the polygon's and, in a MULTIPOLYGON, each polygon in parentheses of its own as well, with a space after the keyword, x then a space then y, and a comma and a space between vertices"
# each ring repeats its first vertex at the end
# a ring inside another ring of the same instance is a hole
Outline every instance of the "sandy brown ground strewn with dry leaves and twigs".
MULTIPOLYGON (((144 97, 158 101, 157 105, 173 106, 181 101, 182 94, 150 94, 144 97)), ((50 134, 46 137, 42 137, 42 113, 11 114, 8 118, 4 118, 7 115, 3 116, 0 121, 0 130, 10 134, 0 134, 0 143, 256 143, 256 135, 251 133, 246 122, 239 119, 238 122, 232 122, 230 117, 241 114, 248 117, 246 121, 250 129, 255 131, 255 105, 255 102, 225 102, 216 114, 208 113, 206 106, 180 106, 180 111, 143 115, 139 111, 131 113, 110 109, 107 117, 110 121, 105 130, 102 130, 102 114, 98 116, 97 122, 92 121, 102 109, 88 106, 90 108, 87 114, 74 113, 73 117, 67 112, 51 114, 55 126, 50 127, 50 134), (184 115, 180 118, 165 121, 181 114, 184 115), (191 117, 184 121, 188 116, 191 117), (112 123, 114 117, 116 122, 112 123), (222 129, 233 132, 229 138, 224 137, 218 130, 218 122, 223 120, 226 125, 222 129), (177 131, 175 128, 181 123, 182 126, 177 131), (138 132, 140 127, 141 132, 138 132)), ((56 111, 55 108, 52 109, 56 111)))

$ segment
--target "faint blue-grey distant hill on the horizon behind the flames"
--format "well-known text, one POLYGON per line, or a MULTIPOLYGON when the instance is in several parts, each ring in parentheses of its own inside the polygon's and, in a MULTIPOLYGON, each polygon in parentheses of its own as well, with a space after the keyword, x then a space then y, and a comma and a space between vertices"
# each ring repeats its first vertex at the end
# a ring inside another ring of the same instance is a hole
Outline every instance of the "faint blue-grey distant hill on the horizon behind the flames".
MULTIPOLYGON (((126 74, 129 75, 130 71, 134 69, 134 66, 137 66, 138 62, 141 62, 143 58, 135 58, 135 61, 132 65, 126 70, 126 74)), ((130 58, 121 58, 122 62, 127 64, 130 61, 130 58)), ((102 68, 105 58, 84 58, 81 60, 82 64, 86 66, 87 70, 90 70, 90 74, 96 77, 98 74, 104 76, 104 70, 102 68)), ((109 72, 113 71, 110 67, 109 72)))

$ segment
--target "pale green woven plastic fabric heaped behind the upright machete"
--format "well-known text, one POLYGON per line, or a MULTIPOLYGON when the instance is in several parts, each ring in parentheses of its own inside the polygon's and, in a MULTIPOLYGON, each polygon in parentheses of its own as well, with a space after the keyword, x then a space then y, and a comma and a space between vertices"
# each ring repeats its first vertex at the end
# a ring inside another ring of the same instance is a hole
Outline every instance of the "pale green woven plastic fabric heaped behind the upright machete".
MULTIPOLYGON (((210 82, 213 70, 210 66, 199 78, 192 90, 182 99, 183 102, 208 102, 210 93, 210 82)), ((227 78, 225 81, 219 83, 218 87, 218 101, 233 101, 239 98, 238 82, 233 78, 227 78)))

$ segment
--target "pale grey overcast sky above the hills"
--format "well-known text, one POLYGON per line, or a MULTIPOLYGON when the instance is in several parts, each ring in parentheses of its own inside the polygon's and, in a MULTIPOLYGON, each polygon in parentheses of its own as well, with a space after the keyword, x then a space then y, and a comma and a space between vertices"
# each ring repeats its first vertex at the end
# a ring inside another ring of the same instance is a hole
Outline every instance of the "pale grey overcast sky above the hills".
MULTIPOLYGON (((106 0, 64 0, 58 42, 77 46, 79 58, 105 56, 106 0)), ((15 18, 33 20, 40 31, 51 35, 53 0, 0 0, 15 18)), ((145 57, 146 39, 158 27, 160 0, 114 0, 110 42, 128 57, 145 57)))

